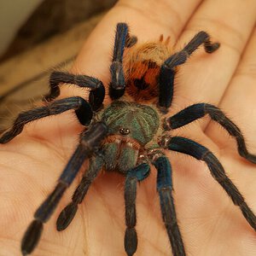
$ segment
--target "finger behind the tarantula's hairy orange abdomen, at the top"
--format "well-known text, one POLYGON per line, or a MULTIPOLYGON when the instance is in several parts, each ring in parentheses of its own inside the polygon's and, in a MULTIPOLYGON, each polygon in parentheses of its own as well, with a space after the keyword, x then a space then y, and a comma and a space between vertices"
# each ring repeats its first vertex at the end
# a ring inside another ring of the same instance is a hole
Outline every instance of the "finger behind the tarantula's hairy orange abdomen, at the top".
POLYGON ((140 42, 157 40, 160 34, 171 36, 176 42, 183 26, 201 0, 171 1, 119 1, 106 15, 84 44, 76 61, 76 67, 85 73, 102 77, 108 72, 113 49, 114 29, 118 22, 127 22, 131 34, 140 42), (90 49, 90 50, 88 50, 90 49))

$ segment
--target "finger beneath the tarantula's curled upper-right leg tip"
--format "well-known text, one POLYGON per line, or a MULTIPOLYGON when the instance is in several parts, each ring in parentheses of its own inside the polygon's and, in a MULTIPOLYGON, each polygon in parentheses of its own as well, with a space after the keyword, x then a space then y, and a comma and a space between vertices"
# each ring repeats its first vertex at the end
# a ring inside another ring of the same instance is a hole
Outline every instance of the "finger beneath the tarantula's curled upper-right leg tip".
POLYGON ((230 82, 256 20, 256 2, 240 0, 207 0, 189 20, 177 49, 182 48, 196 32, 206 30, 220 48, 207 55, 195 53, 181 67, 174 90, 173 108, 184 108, 195 102, 217 104, 230 82), (178 107, 177 107, 178 106, 178 107))

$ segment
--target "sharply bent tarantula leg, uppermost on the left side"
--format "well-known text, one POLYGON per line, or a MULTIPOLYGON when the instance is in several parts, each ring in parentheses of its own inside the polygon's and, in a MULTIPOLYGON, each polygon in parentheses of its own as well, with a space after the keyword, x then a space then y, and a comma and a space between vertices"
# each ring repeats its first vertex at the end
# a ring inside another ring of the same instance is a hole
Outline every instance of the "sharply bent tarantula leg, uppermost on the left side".
POLYGON ((102 81, 89 77, 86 75, 75 75, 73 73, 66 73, 55 71, 49 77, 49 94, 44 96, 44 100, 51 102, 60 95, 59 84, 75 84, 82 88, 89 88, 89 102, 93 110, 98 110, 102 107, 102 102, 105 97, 105 88, 102 81))

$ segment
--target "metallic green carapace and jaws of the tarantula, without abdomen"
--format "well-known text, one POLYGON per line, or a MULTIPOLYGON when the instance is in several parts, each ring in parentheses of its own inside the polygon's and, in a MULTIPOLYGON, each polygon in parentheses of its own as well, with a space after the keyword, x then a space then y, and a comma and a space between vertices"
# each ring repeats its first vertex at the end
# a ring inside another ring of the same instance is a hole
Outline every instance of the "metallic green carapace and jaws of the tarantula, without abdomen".
POLYGON ((135 102, 113 102, 102 113, 109 136, 103 146, 106 169, 125 173, 137 164, 137 155, 159 129, 159 114, 135 102))

